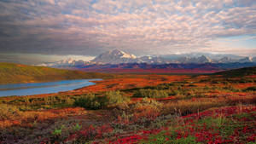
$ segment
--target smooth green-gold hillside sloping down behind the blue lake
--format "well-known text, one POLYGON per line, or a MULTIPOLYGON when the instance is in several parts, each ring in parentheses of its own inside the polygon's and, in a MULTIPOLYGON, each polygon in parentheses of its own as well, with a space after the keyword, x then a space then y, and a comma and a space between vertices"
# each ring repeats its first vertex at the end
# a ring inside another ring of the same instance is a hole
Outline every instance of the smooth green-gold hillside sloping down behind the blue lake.
POLYGON ((0 84, 46 82, 79 78, 112 78, 111 74, 61 70, 0 62, 0 84))

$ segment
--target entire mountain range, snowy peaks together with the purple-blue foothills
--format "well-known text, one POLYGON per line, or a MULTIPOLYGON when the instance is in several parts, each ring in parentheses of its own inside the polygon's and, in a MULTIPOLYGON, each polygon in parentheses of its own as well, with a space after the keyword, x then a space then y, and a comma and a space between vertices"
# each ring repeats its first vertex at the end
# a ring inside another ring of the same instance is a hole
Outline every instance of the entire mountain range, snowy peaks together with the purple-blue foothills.
POLYGON ((79 69, 90 72, 124 72, 124 70, 129 70, 129 72, 132 72, 131 70, 137 70, 134 72, 141 70, 150 70, 149 72, 152 72, 151 70, 157 70, 158 72, 173 72, 174 70, 175 72, 183 72, 183 70, 184 72, 191 72, 191 70, 193 72, 218 72, 227 69, 256 66, 256 57, 206 55, 208 54, 191 54, 190 56, 185 54, 172 57, 170 55, 148 55, 137 57, 119 49, 114 49, 98 55, 90 61, 67 59, 44 63, 39 66, 79 69))

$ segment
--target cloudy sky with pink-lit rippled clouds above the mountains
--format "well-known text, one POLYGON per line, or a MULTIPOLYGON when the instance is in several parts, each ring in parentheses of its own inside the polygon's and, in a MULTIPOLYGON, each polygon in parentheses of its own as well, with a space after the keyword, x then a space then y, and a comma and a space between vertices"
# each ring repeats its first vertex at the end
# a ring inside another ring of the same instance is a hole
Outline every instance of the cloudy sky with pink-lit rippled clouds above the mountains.
POLYGON ((90 60, 111 49, 256 56, 256 1, 0 1, 0 61, 90 60))

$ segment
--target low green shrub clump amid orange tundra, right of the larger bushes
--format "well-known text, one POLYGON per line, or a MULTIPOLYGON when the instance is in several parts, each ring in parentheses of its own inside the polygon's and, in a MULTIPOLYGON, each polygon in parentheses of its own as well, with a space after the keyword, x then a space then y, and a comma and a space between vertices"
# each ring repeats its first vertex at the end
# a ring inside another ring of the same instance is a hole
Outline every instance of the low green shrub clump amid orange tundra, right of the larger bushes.
POLYGON ((139 89, 133 97, 165 98, 168 97, 168 92, 157 89, 139 89))

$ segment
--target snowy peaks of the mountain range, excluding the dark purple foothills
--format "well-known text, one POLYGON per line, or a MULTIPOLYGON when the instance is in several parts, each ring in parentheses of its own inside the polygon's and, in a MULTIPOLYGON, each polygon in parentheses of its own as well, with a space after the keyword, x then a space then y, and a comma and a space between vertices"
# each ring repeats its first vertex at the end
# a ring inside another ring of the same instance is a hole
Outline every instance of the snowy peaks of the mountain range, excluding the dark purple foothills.
POLYGON ((111 51, 105 52, 102 55, 96 56, 94 60, 84 61, 84 60, 60 60, 52 63, 44 63, 39 66, 52 66, 52 67, 74 67, 74 66, 89 66, 89 65, 117 65, 117 64, 127 64, 127 63, 147 63, 147 64, 205 64, 205 63, 256 63, 256 57, 242 57, 232 55, 218 57, 218 59, 211 59, 206 55, 194 56, 177 56, 172 58, 161 57, 161 56, 142 56, 137 57, 136 55, 127 54, 119 49, 113 49, 111 51))

